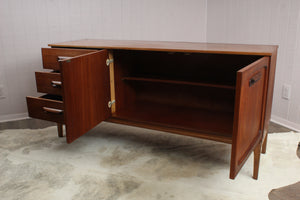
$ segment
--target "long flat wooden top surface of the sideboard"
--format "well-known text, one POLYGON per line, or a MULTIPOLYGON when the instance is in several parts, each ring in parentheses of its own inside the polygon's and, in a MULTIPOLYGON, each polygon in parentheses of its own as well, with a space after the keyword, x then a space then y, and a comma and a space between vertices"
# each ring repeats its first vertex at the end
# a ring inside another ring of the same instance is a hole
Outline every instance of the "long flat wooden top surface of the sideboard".
POLYGON ((49 44, 51 47, 95 48, 95 49, 124 49, 145 51, 177 51, 218 54, 243 54, 271 56, 276 52, 277 45, 249 44, 218 44, 196 42, 166 42, 139 40, 101 40, 84 39, 49 44))

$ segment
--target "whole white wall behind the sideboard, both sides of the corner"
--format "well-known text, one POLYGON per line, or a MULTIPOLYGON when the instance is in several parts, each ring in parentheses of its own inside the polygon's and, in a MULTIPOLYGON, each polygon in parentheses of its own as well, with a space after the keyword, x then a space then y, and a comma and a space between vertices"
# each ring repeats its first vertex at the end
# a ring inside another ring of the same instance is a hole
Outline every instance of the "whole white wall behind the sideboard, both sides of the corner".
POLYGON ((300 130, 299 0, 0 0, 0 121, 27 116, 40 48, 83 38, 279 44, 272 119, 300 130))

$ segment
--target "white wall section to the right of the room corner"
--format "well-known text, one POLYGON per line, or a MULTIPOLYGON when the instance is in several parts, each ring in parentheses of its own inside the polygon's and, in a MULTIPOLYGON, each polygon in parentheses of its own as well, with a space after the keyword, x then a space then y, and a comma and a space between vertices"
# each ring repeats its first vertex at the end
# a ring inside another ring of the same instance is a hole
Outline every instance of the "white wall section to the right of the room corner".
POLYGON ((300 130, 300 1, 208 0, 207 41, 278 44, 272 120, 300 130), (282 99, 283 84, 292 86, 282 99))

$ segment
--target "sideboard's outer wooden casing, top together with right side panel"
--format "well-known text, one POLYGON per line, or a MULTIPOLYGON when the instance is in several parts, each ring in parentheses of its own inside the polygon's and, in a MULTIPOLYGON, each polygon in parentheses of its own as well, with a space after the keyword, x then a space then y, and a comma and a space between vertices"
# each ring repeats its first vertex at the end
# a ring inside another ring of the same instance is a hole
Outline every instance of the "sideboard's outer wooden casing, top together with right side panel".
MULTIPOLYGON (((161 42, 161 41, 119 41, 119 40, 95 40, 84 39, 77 41, 49 44, 52 47, 72 47, 72 48, 106 48, 123 50, 146 50, 165 52, 188 52, 188 53, 214 53, 214 54, 234 54, 234 55, 260 55, 269 56, 270 68, 268 69, 267 97, 264 102, 265 115, 263 123, 264 138, 266 138, 268 125, 271 117, 271 107, 273 98, 275 66, 277 56, 277 45, 244 45, 244 44, 212 44, 212 43, 190 43, 190 42, 161 42)), ((264 139, 265 143, 267 142, 264 139)), ((265 146, 265 145, 264 145, 265 146)))

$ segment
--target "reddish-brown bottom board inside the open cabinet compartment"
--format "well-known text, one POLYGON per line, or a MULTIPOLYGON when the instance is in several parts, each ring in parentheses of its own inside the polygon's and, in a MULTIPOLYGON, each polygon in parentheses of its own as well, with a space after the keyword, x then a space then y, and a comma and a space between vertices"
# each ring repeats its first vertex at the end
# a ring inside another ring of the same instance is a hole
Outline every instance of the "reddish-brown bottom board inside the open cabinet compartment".
POLYGON ((121 119, 123 124, 135 123, 145 128, 175 133, 179 131, 181 134, 184 132, 185 135, 226 143, 230 143, 232 139, 233 113, 230 112, 136 102, 128 105, 126 109, 116 111, 113 119, 119 119, 118 123, 121 119))

